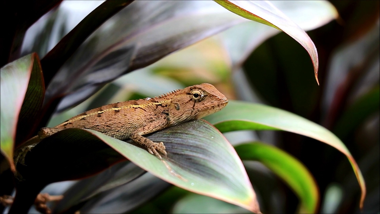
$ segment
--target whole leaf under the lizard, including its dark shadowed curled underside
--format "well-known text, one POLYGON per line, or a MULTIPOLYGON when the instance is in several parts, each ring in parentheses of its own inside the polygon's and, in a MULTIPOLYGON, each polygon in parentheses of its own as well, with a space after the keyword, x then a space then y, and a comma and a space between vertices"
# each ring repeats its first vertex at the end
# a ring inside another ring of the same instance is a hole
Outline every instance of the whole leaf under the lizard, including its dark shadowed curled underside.
POLYGON ((120 157, 122 154, 166 182, 260 212, 240 158, 209 123, 190 121, 147 137, 154 142, 164 142, 168 152, 165 163, 132 145, 133 141, 128 140, 128 143, 97 131, 70 128, 43 139, 25 156, 26 166, 17 164, 17 170, 26 180, 48 184, 100 172, 125 160, 120 157), (49 161, 41 168, 43 160, 49 161), (39 175, 46 168, 50 169, 49 176, 41 178, 39 175))

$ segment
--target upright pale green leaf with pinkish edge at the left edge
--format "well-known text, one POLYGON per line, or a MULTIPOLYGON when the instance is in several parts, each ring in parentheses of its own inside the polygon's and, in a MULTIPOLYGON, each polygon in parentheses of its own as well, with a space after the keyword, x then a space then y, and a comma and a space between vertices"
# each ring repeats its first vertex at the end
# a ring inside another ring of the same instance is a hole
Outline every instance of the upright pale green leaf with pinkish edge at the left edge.
MULTIPOLYGON (((1 150, 8 159, 11 169, 14 171, 13 149, 16 140, 17 118, 20 113, 28 113, 28 110, 35 113, 34 108, 28 109, 27 105, 22 105, 23 102, 38 103, 38 101, 34 102, 29 97, 25 99, 25 94, 32 95, 36 91, 38 93, 41 92, 40 88, 38 88, 38 77, 41 77, 41 67, 37 54, 29 54, 5 65, 1 68, 0 75, 1 150), (29 82, 31 83, 30 86, 28 86, 29 82)), ((21 117, 23 118, 24 116, 21 117)))

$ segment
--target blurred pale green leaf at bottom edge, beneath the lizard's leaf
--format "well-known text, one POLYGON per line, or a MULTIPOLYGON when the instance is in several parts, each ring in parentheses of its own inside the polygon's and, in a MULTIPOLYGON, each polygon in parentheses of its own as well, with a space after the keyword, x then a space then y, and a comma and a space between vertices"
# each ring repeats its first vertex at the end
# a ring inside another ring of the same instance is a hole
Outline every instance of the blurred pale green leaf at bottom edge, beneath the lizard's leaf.
POLYGON ((234 204, 194 193, 186 195, 174 204, 171 213, 252 213, 234 204))

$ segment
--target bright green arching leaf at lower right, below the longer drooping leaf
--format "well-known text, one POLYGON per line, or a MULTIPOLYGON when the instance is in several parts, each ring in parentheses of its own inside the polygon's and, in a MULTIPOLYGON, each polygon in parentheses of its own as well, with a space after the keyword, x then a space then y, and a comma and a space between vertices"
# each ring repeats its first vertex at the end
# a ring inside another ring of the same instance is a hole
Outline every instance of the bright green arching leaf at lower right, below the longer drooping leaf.
POLYGON ((300 200, 299 213, 317 212, 318 186, 304 164, 288 153, 260 142, 237 145, 235 149, 242 160, 260 161, 283 179, 300 200))

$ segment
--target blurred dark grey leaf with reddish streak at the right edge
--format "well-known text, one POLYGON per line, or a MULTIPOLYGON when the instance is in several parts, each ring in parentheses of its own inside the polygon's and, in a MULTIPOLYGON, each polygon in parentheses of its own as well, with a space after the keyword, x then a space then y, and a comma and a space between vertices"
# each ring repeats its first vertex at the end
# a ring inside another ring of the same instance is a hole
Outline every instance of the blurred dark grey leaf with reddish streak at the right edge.
POLYGON ((379 30, 377 23, 358 40, 342 44, 332 53, 322 103, 326 127, 333 129, 350 100, 379 84, 379 30))

